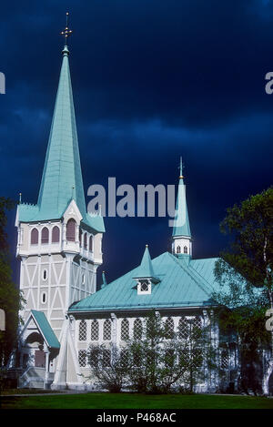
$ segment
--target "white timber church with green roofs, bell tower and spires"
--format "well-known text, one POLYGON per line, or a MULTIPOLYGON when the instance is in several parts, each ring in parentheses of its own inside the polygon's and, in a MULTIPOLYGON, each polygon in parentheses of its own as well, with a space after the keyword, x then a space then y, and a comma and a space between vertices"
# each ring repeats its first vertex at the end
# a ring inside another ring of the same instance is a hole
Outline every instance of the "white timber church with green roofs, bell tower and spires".
MULTIPOLYGON (((236 382, 235 343, 223 342, 213 320, 217 259, 192 258, 182 170, 176 209, 185 220, 182 225, 175 221, 172 253, 150 259, 146 248, 136 269, 111 283, 103 275, 97 286, 105 227, 100 215, 86 211, 68 56, 65 46, 37 204, 21 202, 15 219, 20 290, 26 301, 11 361, 20 370, 18 386, 94 390, 93 381, 85 381, 90 343, 121 346, 129 338, 141 339, 151 310, 178 337, 193 321, 199 328, 210 325, 227 384, 236 382)), ((219 381, 208 375, 197 391, 217 391, 219 381)))

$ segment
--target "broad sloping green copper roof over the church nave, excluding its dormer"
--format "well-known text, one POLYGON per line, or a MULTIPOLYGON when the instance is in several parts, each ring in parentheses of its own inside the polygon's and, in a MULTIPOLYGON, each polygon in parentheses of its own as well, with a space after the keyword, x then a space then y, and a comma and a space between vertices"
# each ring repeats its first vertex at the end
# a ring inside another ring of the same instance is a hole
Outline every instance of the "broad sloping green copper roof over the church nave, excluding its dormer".
POLYGON ((152 292, 137 295, 138 267, 108 283, 84 300, 72 304, 70 312, 115 310, 149 310, 206 307, 212 304, 212 291, 218 289, 214 277, 217 259, 177 259, 165 252, 151 260, 154 274, 160 280, 152 292))

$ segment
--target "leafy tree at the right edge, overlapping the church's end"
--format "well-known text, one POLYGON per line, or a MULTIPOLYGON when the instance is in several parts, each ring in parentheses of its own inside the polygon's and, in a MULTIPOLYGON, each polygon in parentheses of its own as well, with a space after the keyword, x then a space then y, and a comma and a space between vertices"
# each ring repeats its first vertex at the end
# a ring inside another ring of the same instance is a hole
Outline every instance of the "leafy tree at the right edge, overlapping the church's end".
POLYGON ((241 379, 247 384, 255 382, 253 388, 258 388, 253 371, 254 365, 262 362, 261 349, 271 354, 268 378, 273 356, 272 333, 265 327, 266 311, 273 307, 272 218, 273 188, 228 208, 220 229, 229 236, 230 246, 221 253, 215 268, 220 290, 212 297, 219 304, 220 326, 238 333, 241 379))

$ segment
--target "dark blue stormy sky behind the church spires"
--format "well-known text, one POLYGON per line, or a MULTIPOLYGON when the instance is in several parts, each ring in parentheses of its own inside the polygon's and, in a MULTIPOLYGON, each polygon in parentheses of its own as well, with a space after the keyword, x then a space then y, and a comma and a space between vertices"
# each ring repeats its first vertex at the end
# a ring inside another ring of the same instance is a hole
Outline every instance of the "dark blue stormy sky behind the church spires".
MULTIPOLYGON (((226 208, 272 183, 271 0, 10 1, 0 17, 1 195, 36 203, 70 12, 85 189, 177 184, 185 163, 194 257, 227 244, 226 208)), ((86 198, 86 201, 88 199, 86 198)), ((15 252, 15 214, 8 232, 15 252)), ((167 219, 105 219, 107 280, 170 249, 167 219)), ((100 278, 98 278, 100 282, 100 278)))

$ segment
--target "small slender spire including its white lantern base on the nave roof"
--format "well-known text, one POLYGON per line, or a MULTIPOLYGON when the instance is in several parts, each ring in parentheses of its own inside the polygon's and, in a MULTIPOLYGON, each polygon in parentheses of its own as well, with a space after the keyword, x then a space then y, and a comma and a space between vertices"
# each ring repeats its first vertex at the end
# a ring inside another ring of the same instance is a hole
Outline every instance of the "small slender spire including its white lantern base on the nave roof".
POLYGON ((187 214, 186 186, 184 184, 182 158, 180 158, 179 169, 176 215, 173 228, 173 252, 177 255, 191 255, 191 232, 187 214))

